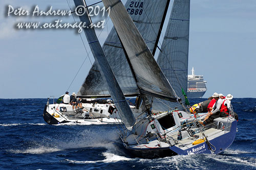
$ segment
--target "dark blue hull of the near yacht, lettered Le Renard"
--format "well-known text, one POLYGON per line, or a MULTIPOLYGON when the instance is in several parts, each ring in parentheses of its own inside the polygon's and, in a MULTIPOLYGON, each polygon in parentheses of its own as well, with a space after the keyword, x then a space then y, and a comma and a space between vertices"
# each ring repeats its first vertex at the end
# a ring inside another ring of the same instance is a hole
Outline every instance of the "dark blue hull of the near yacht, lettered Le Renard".
POLYGON ((129 147, 129 145, 124 143, 124 147, 129 150, 132 155, 148 159, 175 155, 219 154, 226 150, 232 144, 234 138, 236 137, 237 121, 233 120, 231 126, 228 129, 228 132, 224 131, 223 129, 223 131, 220 132, 222 134, 216 134, 217 136, 213 135, 207 137, 209 143, 211 144, 210 146, 212 150, 210 150, 206 142, 202 142, 196 145, 187 145, 187 147, 184 146, 185 149, 182 147, 180 148, 180 143, 176 143, 173 146, 163 148, 145 148, 143 146, 143 148, 139 148, 136 146, 129 147))

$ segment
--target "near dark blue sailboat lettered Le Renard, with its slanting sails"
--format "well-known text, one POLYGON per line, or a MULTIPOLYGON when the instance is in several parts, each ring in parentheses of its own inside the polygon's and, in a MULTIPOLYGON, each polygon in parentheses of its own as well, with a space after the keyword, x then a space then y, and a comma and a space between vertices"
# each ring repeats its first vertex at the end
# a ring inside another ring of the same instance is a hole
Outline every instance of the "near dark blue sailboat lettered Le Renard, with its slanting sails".
MULTIPOLYGON (((74 0, 74 2, 76 6, 85 5, 80 0, 74 0)), ((185 112, 185 107, 182 107, 184 111, 181 111, 181 109, 172 110, 167 105, 167 111, 152 111, 152 103, 156 99, 163 101, 165 105, 164 101, 177 102, 183 106, 179 94, 175 92, 177 89, 170 85, 175 83, 175 78, 167 79, 163 74, 121 1, 103 0, 102 2, 106 9, 111 7, 110 17, 142 99, 141 114, 145 115, 143 118, 134 116, 125 100, 122 88, 115 79, 112 67, 108 64, 98 43, 94 30, 85 29, 100 74, 108 85, 108 91, 125 126, 120 129, 119 134, 124 147, 135 156, 144 158, 202 153, 218 154, 227 149, 234 140, 237 128, 237 121, 233 118, 232 111, 227 117, 217 118, 205 127, 198 124, 198 120, 204 119, 205 114, 199 117, 190 115, 185 112)), ((185 6, 189 9, 189 1, 175 1, 172 13, 175 9, 181 9, 176 11, 178 13, 184 12, 182 9, 185 6)), ((91 22, 88 15, 81 16, 80 19, 87 23, 91 22)))

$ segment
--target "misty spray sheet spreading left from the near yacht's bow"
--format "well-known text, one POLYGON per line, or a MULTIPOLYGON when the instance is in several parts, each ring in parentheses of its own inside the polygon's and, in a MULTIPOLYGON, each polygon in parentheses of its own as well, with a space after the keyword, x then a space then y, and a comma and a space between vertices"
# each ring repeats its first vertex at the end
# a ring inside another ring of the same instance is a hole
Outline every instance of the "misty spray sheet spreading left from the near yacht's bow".
POLYGON ((33 147, 6 151, 16 154, 45 154, 80 148, 90 148, 90 150, 93 148, 105 148, 106 150, 115 151, 115 142, 118 139, 119 137, 115 130, 111 132, 106 132, 106 130, 100 132, 83 130, 76 133, 75 136, 71 138, 63 138, 63 136, 57 139, 51 138, 50 140, 46 139, 44 141, 40 141, 33 147), (108 135, 105 135, 106 133, 108 135))

